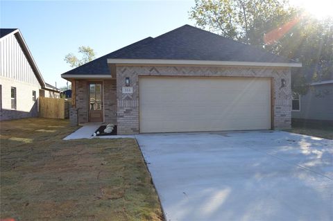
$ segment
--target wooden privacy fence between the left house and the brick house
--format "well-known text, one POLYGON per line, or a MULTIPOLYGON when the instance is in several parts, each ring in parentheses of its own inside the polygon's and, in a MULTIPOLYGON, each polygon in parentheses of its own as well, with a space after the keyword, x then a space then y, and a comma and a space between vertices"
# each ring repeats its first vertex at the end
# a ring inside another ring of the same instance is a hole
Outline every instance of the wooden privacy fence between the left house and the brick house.
POLYGON ((38 98, 40 117, 65 119, 65 99, 38 98))

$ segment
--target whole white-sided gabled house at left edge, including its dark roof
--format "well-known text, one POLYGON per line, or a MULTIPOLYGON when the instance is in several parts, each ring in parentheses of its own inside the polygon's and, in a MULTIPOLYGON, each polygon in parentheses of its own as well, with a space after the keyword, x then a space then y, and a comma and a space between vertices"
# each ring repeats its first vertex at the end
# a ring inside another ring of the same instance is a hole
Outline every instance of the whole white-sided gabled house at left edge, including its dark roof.
POLYGON ((0 120, 37 116, 37 98, 49 94, 60 90, 44 82, 22 33, 0 28, 0 120))

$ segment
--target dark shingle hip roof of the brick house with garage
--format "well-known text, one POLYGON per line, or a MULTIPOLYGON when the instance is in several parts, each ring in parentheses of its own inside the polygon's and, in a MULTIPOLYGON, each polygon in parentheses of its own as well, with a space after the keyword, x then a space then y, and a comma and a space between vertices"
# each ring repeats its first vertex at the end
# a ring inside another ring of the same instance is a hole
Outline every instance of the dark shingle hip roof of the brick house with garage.
POLYGON ((211 60, 233 62, 293 62, 263 49, 185 25, 158 37, 148 37, 64 74, 110 74, 107 59, 211 60))

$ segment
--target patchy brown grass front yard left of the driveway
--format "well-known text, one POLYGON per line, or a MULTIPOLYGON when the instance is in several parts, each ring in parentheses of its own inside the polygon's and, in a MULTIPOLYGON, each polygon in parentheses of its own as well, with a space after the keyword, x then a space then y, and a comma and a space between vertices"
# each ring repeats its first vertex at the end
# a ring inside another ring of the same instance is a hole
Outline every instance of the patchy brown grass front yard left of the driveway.
POLYGON ((162 220, 135 139, 62 141, 68 121, 1 122, 0 219, 162 220))

